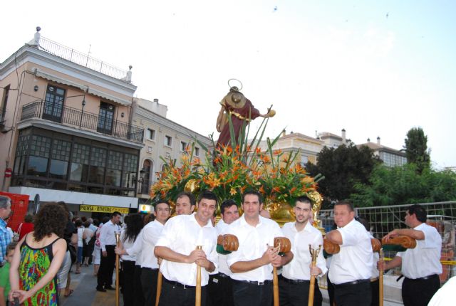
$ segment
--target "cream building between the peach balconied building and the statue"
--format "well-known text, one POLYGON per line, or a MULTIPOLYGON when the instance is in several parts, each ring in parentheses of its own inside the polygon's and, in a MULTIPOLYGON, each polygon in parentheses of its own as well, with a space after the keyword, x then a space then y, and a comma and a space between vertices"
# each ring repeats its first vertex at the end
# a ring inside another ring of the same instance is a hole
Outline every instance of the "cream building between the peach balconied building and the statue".
POLYGON ((195 137, 206 147, 212 143, 209 137, 204 137, 167 119, 167 107, 160 104, 158 99, 149 101, 135 98, 134 105, 133 124, 145 130, 144 147, 140 152, 141 179, 138 198, 142 204, 140 210, 148 211, 150 207, 146 203, 149 199, 150 186, 156 181, 156 172, 160 172, 165 164, 160 157, 170 157, 180 164, 185 149, 195 145, 193 154, 204 163, 205 152, 199 144, 195 143, 195 137))

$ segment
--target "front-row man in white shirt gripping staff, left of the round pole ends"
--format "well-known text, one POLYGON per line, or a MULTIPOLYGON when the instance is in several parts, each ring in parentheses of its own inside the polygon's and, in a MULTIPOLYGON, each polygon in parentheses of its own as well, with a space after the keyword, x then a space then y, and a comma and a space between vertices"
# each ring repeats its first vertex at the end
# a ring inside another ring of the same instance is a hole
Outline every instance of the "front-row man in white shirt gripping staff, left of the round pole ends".
POLYGON ((209 272, 217 262, 217 231, 211 217, 217 207, 212 191, 199 196, 197 212, 170 218, 155 244, 155 256, 162 258, 163 275, 159 305, 192 305, 195 303, 197 268, 201 268, 201 301, 206 303, 209 272), (201 249, 197 249, 201 246, 201 249))

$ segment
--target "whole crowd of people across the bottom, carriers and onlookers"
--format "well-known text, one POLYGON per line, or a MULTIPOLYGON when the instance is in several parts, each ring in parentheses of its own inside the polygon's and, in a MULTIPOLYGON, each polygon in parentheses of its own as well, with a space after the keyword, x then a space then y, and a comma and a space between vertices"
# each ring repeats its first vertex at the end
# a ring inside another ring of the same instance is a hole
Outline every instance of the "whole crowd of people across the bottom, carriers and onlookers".
POLYGON ((197 270, 203 306, 272 305, 273 268, 279 270, 279 305, 307 305, 309 292, 314 292, 314 305, 322 305, 318 283, 310 285, 311 278, 323 275, 328 278, 331 306, 378 305, 378 270, 398 266, 405 277, 404 305, 447 305, 442 296, 449 290, 437 292, 442 240, 425 223, 423 206, 410 206, 405 214, 409 228, 395 229, 385 237, 388 242, 408 236, 417 246, 384 261, 373 252, 366 219, 355 216, 350 202, 339 201, 334 206, 335 225, 325 237, 339 250, 327 258, 321 250, 312 265, 309 248, 321 248, 323 236, 312 225, 312 203, 306 196, 296 199, 295 221, 282 228, 262 216, 257 191, 246 191, 240 205, 230 199, 219 204, 212 191, 202 191, 198 199, 182 192, 175 203, 176 216, 170 217, 170 203, 159 201, 152 215, 143 218, 132 213, 123 223, 118 212, 100 223, 73 218, 63 202, 46 204, 33 222, 26 217, 16 229, 19 241, 15 242, 4 221, 11 213, 11 201, 0 196, 0 306, 15 299, 24 305, 59 305, 73 293, 70 270, 74 264, 80 273, 83 265, 92 263, 95 289, 115 290, 116 255, 121 259, 120 292, 125 306, 155 305, 157 299, 162 306, 194 305, 197 270), (218 206, 221 218, 215 223, 218 206), (217 248, 217 237, 224 235, 237 237, 237 250, 217 248), (279 253, 274 247, 274 238, 279 237, 289 239, 290 252, 279 253), (159 275, 162 282, 157 292, 159 275))

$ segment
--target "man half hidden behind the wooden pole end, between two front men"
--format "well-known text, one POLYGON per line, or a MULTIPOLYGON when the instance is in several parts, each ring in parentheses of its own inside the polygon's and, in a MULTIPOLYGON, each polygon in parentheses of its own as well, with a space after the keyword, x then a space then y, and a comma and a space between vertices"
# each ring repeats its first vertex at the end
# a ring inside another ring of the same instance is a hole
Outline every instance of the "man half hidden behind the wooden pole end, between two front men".
MULTIPOLYGON (((239 219, 237 204, 233 200, 225 200, 220 206, 220 211, 222 212, 222 218, 215 226, 217 236, 222 235, 229 224, 239 219)), ((207 305, 232 306, 233 286, 232 279, 229 277, 231 271, 228 268, 227 255, 217 255, 218 269, 214 271, 214 274, 209 275, 209 283, 207 284, 207 305)))

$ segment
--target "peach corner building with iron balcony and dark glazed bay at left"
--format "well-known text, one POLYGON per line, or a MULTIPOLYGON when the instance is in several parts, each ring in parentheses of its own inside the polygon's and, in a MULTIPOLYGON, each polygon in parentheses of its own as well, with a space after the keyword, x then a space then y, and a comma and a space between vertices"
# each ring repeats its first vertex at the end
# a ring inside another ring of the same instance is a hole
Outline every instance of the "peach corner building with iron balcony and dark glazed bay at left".
POLYGON ((132 124, 131 71, 39 30, 0 64, 0 171, 12 171, 1 190, 88 216, 136 209, 144 129, 132 124))

